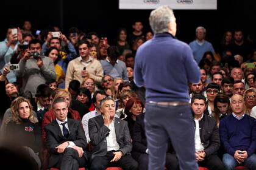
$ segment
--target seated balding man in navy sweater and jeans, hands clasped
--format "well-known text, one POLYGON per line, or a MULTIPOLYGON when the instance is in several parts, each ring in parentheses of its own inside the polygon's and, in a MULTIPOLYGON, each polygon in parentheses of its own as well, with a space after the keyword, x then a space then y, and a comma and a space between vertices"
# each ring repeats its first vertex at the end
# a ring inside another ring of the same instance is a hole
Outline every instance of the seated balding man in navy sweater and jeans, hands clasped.
POLYGON ((230 106, 233 113, 219 123, 219 136, 226 154, 222 161, 226 169, 244 165, 256 169, 256 120, 244 113, 244 99, 235 94, 230 106))

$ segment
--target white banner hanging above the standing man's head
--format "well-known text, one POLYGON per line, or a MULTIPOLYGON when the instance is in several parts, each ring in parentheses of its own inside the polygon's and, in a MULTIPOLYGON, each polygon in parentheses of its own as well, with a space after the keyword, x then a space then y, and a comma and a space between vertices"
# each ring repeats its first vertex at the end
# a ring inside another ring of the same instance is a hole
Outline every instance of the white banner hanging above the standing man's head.
POLYGON ((119 0, 119 9, 156 9, 162 5, 180 10, 216 10, 217 0, 119 0))

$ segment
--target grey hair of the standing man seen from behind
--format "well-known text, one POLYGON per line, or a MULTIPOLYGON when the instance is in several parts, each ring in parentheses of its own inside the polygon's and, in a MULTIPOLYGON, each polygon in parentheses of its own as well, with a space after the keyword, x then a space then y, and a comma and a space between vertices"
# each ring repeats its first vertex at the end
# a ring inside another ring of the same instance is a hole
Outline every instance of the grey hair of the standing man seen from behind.
POLYGON ((158 7, 149 16, 149 24, 155 34, 168 32, 168 24, 173 21, 174 13, 168 5, 158 7))

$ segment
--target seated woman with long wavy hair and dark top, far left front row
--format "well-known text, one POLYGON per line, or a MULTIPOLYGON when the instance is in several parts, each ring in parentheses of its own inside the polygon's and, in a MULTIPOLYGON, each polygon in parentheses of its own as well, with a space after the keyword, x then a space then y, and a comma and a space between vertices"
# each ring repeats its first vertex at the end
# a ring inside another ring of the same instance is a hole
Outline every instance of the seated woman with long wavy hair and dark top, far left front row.
POLYGON ((10 110, 12 117, 7 119, 5 140, 8 144, 23 147, 29 153, 31 161, 40 169, 41 161, 38 154, 41 149, 41 132, 32 105, 26 98, 17 97, 12 101, 10 110))

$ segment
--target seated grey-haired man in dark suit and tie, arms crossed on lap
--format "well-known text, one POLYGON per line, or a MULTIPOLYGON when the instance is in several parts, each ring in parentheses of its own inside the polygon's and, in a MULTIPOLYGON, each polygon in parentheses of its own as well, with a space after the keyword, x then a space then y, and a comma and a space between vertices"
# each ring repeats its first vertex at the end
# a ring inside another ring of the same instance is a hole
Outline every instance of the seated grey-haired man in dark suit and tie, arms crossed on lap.
POLYGON ((78 169, 87 165, 87 141, 79 121, 67 118, 68 104, 63 98, 52 103, 55 121, 45 126, 50 157, 49 168, 78 169))

